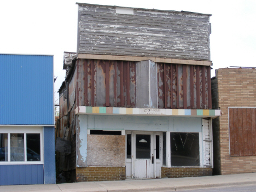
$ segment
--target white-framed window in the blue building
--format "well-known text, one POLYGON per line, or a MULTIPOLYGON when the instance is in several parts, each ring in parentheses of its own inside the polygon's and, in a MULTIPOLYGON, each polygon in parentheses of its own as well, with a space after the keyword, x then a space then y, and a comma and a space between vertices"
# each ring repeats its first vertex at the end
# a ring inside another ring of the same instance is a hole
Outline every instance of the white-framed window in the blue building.
MULTIPOLYGON (((35 131, 38 133, 30 133, 30 131, 21 133, 21 129, 17 130, 19 129, 0 129, 0 161, 42 161, 42 133, 40 133, 42 129, 35 131)), ((33 129, 29 130, 33 131, 33 129)))

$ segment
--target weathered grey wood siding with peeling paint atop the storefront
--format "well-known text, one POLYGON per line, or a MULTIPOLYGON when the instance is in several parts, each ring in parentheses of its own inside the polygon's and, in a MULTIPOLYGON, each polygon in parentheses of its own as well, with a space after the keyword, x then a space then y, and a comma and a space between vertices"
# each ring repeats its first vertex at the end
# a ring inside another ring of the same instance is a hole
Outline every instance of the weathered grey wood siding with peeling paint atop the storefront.
POLYGON ((78 5, 77 53, 210 60, 211 15, 78 5))

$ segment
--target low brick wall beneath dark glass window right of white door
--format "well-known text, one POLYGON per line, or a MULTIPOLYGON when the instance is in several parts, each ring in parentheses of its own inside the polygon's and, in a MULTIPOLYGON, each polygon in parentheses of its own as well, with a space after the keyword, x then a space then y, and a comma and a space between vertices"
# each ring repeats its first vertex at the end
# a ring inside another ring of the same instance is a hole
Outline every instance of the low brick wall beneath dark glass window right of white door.
POLYGON ((200 167, 161 167, 161 177, 200 177, 212 176, 212 168, 200 167))

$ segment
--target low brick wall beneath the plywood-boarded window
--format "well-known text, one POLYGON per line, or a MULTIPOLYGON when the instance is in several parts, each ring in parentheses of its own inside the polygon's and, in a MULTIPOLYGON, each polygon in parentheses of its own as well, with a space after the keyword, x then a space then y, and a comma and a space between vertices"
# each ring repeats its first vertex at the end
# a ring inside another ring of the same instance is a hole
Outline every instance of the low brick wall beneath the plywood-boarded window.
POLYGON ((77 182, 119 181, 125 179, 125 167, 77 167, 77 182))

